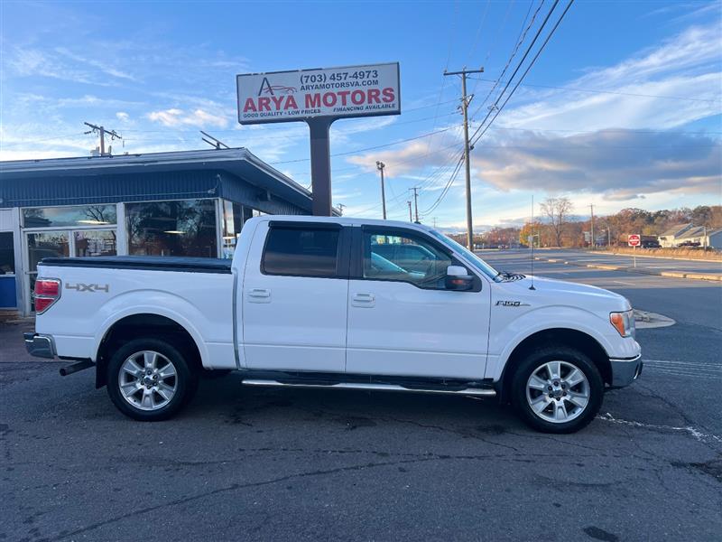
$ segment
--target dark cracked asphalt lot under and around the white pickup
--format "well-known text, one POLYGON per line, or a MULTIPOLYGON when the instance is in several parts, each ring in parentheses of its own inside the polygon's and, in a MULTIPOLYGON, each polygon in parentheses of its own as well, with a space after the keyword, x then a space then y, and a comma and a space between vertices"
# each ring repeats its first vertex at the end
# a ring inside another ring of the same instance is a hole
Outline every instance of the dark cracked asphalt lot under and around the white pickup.
MULTIPOLYGON (((527 252, 486 254, 528 273, 527 252)), ((23 352, 0 324, 6 540, 718 540, 722 285, 563 264, 671 327, 576 435, 490 400, 241 389, 205 380, 180 416, 121 416, 92 371, 23 352)))

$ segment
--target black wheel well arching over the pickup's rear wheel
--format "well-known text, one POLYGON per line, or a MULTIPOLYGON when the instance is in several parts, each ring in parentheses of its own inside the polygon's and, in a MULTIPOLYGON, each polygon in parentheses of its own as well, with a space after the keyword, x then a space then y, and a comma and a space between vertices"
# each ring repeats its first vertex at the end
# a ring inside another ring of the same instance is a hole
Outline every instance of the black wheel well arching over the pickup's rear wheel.
POLYGON ((139 337, 168 341, 187 357, 191 367, 203 369, 198 345, 180 323, 159 314, 133 314, 114 323, 100 341, 96 356, 96 388, 102 388, 107 384, 106 366, 113 352, 125 342, 139 337))

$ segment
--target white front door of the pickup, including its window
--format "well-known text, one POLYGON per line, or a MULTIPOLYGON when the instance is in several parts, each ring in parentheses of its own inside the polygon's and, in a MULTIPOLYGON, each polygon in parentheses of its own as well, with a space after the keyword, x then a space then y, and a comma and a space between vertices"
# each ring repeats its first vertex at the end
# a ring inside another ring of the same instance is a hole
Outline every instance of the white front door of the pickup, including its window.
MULTIPOLYGON (((349 373, 484 378, 489 291, 445 288, 448 248, 412 229, 361 229, 348 288, 349 373), (360 245, 360 246, 359 246, 360 245)), ((471 273, 471 271, 469 272, 471 273)))

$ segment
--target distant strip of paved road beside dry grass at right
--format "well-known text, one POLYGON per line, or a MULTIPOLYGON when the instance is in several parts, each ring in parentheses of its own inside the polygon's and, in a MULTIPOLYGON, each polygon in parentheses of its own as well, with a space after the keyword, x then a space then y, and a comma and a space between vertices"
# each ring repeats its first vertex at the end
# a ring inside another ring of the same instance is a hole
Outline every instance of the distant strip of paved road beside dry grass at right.
MULTIPOLYGON (((528 251, 523 251, 528 252, 528 251)), ((544 258, 563 258, 580 264, 606 264, 612 266, 634 265, 632 255, 614 255, 605 252, 568 249, 535 250, 535 256, 544 258)), ((637 267, 656 271, 680 271, 682 273, 714 273, 722 274, 722 262, 705 260, 680 260, 671 257, 636 257, 637 267)))

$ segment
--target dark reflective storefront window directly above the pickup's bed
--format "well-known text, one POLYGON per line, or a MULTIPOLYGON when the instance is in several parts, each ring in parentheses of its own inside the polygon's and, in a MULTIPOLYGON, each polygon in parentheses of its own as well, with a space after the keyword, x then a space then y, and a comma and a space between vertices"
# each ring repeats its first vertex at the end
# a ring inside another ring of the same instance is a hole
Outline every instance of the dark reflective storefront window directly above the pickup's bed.
POLYGON ((126 203, 128 254, 217 257, 214 200, 126 203))

